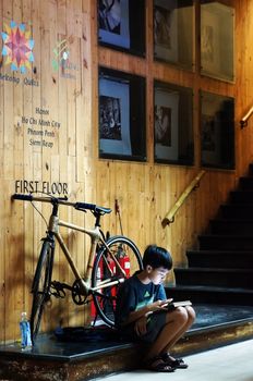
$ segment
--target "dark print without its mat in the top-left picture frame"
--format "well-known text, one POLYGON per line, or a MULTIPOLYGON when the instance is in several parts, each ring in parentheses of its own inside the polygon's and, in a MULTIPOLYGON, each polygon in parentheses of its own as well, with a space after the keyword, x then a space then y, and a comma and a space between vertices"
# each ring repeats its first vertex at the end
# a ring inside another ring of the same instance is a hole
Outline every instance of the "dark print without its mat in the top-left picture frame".
POLYGON ((120 35, 121 8, 120 0, 99 0, 99 28, 120 35))

